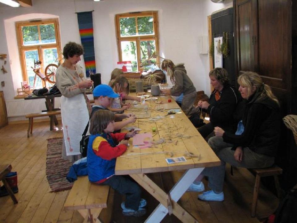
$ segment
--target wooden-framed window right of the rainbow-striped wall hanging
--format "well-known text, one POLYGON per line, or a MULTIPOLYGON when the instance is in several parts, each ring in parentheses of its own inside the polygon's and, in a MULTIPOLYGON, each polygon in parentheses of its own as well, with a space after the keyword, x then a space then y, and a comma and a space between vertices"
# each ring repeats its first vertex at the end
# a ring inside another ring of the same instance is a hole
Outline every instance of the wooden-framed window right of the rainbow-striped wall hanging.
POLYGON ((157 11, 130 12, 115 16, 119 61, 131 61, 132 72, 159 63, 157 11))

